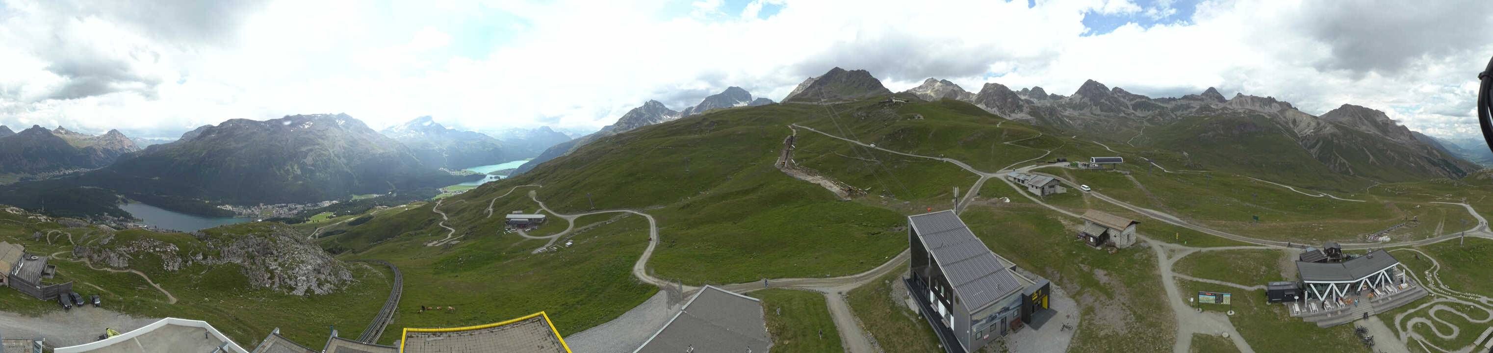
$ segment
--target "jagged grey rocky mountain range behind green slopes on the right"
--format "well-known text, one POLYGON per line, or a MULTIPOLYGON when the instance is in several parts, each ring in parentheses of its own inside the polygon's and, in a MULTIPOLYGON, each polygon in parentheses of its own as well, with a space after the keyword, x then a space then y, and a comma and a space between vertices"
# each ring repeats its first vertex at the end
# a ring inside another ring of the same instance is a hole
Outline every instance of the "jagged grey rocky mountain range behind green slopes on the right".
POLYGON ((1314 116, 1274 97, 1226 98, 1208 88, 1181 98, 1151 98, 1096 80, 1066 97, 1041 86, 1012 91, 994 82, 970 95, 938 79, 905 92, 967 101, 1005 118, 1100 141, 1185 152, 1194 156, 1187 162, 1197 168, 1326 171, 1383 182, 1456 179, 1480 168, 1417 139, 1420 133, 1384 112, 1353 104, 1314 116))

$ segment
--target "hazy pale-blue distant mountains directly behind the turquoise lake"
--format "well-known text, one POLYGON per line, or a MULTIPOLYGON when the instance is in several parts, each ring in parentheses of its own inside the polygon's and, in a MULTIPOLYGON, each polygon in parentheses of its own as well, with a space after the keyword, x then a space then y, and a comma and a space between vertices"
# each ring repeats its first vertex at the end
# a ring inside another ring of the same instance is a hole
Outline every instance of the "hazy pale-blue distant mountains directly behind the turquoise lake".
POLYGON ((420 116, 379 133, 403 143, 421 162, 440 168, 458 170, 520 158, 506 152, 497 139, 482 133, 446 128, 430 116, 420 116))

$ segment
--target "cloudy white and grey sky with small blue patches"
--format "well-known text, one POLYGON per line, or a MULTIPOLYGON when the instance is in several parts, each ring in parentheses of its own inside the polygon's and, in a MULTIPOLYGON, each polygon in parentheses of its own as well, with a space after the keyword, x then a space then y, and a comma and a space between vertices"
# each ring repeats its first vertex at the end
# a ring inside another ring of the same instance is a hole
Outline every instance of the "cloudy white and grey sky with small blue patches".
POLYGON ((0 125, 176 137, 225 119, 594 130, 832 67, 1151 97, 1218 88, 1477 133, 1493 1, 0 0, 0 125))

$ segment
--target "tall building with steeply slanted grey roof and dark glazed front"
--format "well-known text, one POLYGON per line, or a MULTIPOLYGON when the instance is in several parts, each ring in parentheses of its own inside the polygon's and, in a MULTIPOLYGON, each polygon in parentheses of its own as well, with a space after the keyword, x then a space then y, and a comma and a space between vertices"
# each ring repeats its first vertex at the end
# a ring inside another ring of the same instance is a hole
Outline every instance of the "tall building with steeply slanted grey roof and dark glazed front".
POLYGON ((953 210, 908 216, 908 292, 944 349, 978 352, 1050 310, 1051 283, 1023 276, 953 210))

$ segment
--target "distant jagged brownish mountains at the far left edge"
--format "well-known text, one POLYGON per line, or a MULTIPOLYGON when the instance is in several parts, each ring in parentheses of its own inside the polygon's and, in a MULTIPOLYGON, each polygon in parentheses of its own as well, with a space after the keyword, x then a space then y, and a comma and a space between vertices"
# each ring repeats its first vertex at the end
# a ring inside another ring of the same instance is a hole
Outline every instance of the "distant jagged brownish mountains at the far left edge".
POLYGON ((118 130, 102 136, 37 125, 13 133, 0 127, 0 173, 45 174, 100 168, 140 150, 118 130))

